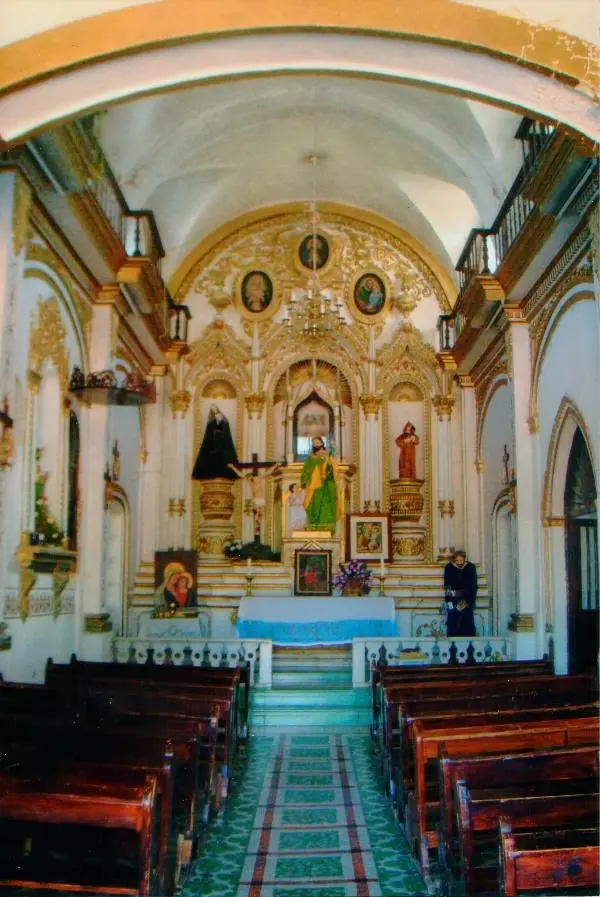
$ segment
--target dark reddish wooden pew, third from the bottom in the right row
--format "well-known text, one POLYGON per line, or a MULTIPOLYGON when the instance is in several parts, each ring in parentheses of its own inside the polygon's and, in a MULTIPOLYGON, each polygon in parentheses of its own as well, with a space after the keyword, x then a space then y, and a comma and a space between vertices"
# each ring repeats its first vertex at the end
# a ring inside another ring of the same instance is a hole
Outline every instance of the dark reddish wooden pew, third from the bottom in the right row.
POLYGON ((545 781, 598 780, 598 748, 560 748, 517 753, 450 757, 445 748, 438 757, 440 793, 440 864, 448 874, 456 868, 458 839, 454 834, 454 791, 458 781, 470 789, 526 785, 545 781))

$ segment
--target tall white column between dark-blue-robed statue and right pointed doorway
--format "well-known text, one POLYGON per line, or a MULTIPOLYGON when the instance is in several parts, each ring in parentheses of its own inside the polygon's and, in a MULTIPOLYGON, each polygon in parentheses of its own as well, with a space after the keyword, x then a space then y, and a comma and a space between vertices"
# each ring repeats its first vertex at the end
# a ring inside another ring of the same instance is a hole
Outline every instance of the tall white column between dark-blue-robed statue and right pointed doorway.
MULTIPOLYGON (((516 659, 537 656, 536 614, 539 610, 539 503, 535 494, 537 471, 534 436, 529 431, 531 351, 529 328, 518 305, 505 303, 507 338, 512 347, 515 462, 517 472, 517 612, 509 628, 515 633, 516 659)), ((510 349, 509 349, 510 354, 510 349)), ((534 422, 532 422, 534 425, 534 422)), ((535 427, 534 427, 535 429, 535 427)))

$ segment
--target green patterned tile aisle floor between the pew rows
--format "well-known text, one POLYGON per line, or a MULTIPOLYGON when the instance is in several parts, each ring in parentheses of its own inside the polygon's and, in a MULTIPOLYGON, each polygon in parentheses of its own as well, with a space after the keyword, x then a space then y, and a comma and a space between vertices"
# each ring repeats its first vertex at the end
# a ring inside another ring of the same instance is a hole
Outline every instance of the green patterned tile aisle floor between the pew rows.
POLYGON ((182 897, 412 897, 427 889, 382 794, 367 735, 252 738, 182 897))

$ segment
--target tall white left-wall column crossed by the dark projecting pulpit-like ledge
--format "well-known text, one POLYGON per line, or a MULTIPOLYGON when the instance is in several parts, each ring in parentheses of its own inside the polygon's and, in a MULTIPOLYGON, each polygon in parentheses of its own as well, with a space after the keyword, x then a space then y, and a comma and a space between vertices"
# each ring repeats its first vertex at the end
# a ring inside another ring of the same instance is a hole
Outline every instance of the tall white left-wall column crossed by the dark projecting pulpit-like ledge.
MULTIPOLYGON (((119 290, 114 288, 113 298, 119 290)), ((109 299, 108 290, 106 299, 109 299)), ((103 371, 112 366, 111 304, 95 305, 91 326, 90 370, 103 371)), ((83 622, 76 635, 78 657, 82 660, 108 660, 112 621, 105 610, 106 511, 104 472, 108 458, 109 406, 89 405, 81 414, 82 422, 82 502, 80 573, 77 607, 83 622)))

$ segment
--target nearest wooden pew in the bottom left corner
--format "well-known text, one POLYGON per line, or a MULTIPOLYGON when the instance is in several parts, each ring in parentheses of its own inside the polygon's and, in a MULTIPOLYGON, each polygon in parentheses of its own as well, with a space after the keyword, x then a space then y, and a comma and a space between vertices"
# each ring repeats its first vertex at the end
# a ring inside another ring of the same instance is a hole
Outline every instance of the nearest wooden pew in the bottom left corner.
POLYGON ((144 773, 102 782, 60 769, 45 780, 0 774, 0 884, 153 897, 157 794, 156 777, 144 773), (126 838, 135 858, 129 873, 111 862, 126 838))

